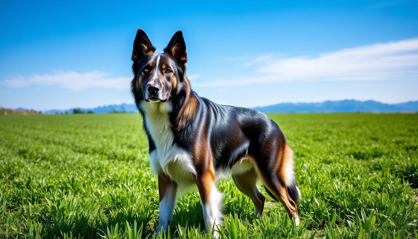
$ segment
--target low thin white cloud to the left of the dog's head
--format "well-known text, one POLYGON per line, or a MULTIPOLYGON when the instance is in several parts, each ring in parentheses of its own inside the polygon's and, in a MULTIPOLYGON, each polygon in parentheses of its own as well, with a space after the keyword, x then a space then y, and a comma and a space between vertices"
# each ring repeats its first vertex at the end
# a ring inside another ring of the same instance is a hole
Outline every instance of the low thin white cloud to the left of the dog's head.
POLYGON ((63 72, 57 71, 54 74, 34 74, 29 77, 15 77, 4 80, 2 83, 7 87, 29 87, 31 85, 60 86, 70 90, 85 90, 88 88, 107 88, 126 90, 130 87, 132 77, 109 77, 106 72, 63 72))

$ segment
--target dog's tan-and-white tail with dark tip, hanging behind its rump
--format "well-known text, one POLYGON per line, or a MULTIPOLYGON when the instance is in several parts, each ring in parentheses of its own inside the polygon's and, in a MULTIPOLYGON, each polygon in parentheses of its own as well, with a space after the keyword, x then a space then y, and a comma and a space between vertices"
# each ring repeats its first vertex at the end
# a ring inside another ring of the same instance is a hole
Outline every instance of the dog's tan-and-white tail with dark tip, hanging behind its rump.
POLYGON ((293 201, 295 201, 295 203, 297 203, 299 200, 301 200, 301 191, 299 190, 298 185, 296 185, 293 151, 287 144, 283 153, 281 172, 289 196, 292 198, 293 201))

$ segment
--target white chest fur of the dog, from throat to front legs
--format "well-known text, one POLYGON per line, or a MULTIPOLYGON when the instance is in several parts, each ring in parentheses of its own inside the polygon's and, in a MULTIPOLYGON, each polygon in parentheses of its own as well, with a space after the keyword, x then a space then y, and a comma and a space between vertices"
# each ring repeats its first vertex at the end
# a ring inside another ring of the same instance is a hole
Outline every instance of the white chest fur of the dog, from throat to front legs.
POLYGON ((145 111, 145 126, 156 148, 150 152, 153 171, 156 174, 165 173, 181 188, 188 187, 196 171, 190 154, 173 144, 174 134, 169 118, 171 104, 144 101, 141 108, 145 111))

